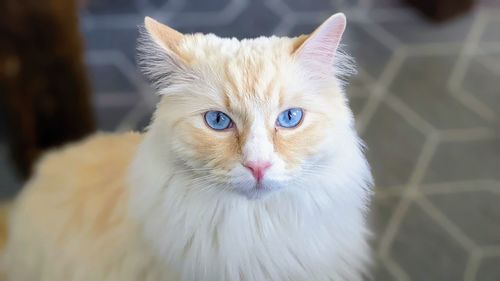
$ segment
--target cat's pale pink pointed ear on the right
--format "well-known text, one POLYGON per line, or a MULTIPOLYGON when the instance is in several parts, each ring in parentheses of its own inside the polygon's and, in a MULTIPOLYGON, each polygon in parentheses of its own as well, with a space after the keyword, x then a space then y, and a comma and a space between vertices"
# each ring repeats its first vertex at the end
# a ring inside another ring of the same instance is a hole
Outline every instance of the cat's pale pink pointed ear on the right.
POLYGON ((311 70, 332 75, 345 27, 346 17, 343 13, 331 16, 294 50, 293 55, 311 70))

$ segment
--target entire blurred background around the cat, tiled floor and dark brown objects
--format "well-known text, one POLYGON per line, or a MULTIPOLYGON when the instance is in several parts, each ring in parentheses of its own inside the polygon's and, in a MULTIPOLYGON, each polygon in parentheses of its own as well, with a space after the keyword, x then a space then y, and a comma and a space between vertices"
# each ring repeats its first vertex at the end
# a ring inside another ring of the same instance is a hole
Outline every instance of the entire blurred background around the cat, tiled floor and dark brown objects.
POLYGON ((1 197, 48 148, 148 124, 144 16, 244 38, 309 33, 339 11, 376 179, 373 280, 500 280, 497 0, 2 0, 1 197))

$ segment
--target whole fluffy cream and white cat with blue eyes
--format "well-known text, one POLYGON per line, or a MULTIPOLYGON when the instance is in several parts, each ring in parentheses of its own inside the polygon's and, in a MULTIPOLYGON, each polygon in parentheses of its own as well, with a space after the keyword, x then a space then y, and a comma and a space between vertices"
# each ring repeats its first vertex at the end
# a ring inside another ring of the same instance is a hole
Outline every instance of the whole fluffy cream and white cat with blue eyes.
POLYGON ((371 174, 339 79, 344 15, 296 38, 145 27, 152 124, 39 162, 5 280, 361 280, 371 174))

